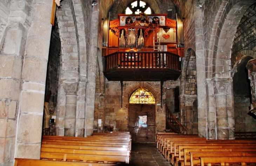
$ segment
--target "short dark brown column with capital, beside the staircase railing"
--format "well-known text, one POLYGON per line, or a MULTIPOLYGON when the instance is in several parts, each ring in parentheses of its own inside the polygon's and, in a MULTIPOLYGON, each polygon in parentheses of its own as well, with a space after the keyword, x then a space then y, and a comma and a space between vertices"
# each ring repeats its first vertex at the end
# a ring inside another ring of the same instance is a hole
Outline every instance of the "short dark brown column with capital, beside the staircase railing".
POLYGON ((197 95, 184 95, 185 96, 185 110, 186 110, 186 127, 188 129, 187 134, 193 134, 193 122, 194 122, 194 110, 193 103, 197 98, 197 95))

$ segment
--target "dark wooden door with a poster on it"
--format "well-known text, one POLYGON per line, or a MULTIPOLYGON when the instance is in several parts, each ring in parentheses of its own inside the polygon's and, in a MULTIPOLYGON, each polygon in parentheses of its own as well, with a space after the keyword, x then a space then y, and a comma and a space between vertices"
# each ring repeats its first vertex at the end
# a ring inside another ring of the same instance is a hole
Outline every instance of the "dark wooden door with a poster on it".
POLYGON ((132 135, 132 142, 155 142, 155 105, 130 104, 128 116, 128 131, 132 135), (146 123, 143 118, 147 119, 146 123))

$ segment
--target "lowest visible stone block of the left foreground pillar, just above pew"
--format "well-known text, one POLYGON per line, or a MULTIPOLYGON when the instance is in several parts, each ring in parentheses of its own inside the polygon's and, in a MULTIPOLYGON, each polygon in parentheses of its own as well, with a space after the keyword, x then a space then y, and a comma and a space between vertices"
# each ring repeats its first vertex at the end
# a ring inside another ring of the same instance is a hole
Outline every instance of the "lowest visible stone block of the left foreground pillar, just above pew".
MULTIPOLYGON (((41 133, 39 135, 41 136, 41 133)), ((41 142, 34 144, 17 143, 16 147, 16 158, 40 159, 41 142)))

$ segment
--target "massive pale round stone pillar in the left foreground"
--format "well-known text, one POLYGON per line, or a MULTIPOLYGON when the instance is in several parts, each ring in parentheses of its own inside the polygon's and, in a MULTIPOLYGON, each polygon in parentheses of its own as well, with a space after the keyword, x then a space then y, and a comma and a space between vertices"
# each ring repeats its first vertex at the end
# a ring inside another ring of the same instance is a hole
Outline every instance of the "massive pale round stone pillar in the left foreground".
MULTIPOLYGON (((52 25, 49 22, 52 10, 52 1, 12 1, 14 13, 17 7, 24 5, 23 9, 29 12, 31 27, 27 34, 20 34, 27 37, 22 42, 24 47, 21 55, 22 61, 22 80, 20 93, 20 107, 18 116, 18 129, 16 136, 15 158, 40 159, 43 105, 45 98, 45 81, 47 71, 47 61, 49 55, 49 43, 52 25), (29 3, 29 4, 28 4, 29 3), (30 153, 27 153, 30 152, 30 153)), ((27 18, 26 14, 15 18, 27 18)), ((14 19, 15 19, 14 18, 14 19)), ((24 20, 24 24, 27 24, 24 20)), ((24 32, 24 31, 23 31, 24 32)), ((12 32, 13 33, 13 32, 12 32)), ((15 49, 17 49, 16 47, 15 49)), ((14 49, 14 50, 15 50, 14 49)), ((15 66, 14 66, 15 68, 15 66)), ((10 84, 12 85, 12 84, 10 84)), ((12 85, 15 86, 15 85, 12 85)), ((10 88, 12 89, 12 88, 10 88)), ((19 93, 15 89, 13 92, 19 93)))

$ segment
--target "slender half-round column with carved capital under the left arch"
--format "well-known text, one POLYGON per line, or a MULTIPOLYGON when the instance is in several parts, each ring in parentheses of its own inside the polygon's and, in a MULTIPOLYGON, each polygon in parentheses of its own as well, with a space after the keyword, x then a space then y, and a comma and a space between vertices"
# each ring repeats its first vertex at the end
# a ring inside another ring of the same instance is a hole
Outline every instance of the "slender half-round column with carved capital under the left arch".
POLYGON ((63 83, 66 92, 66 109, 65 109, 65 129, 64 136, 75 137, 76 123, 76 92, 78 91, 78 83, 63 83))

